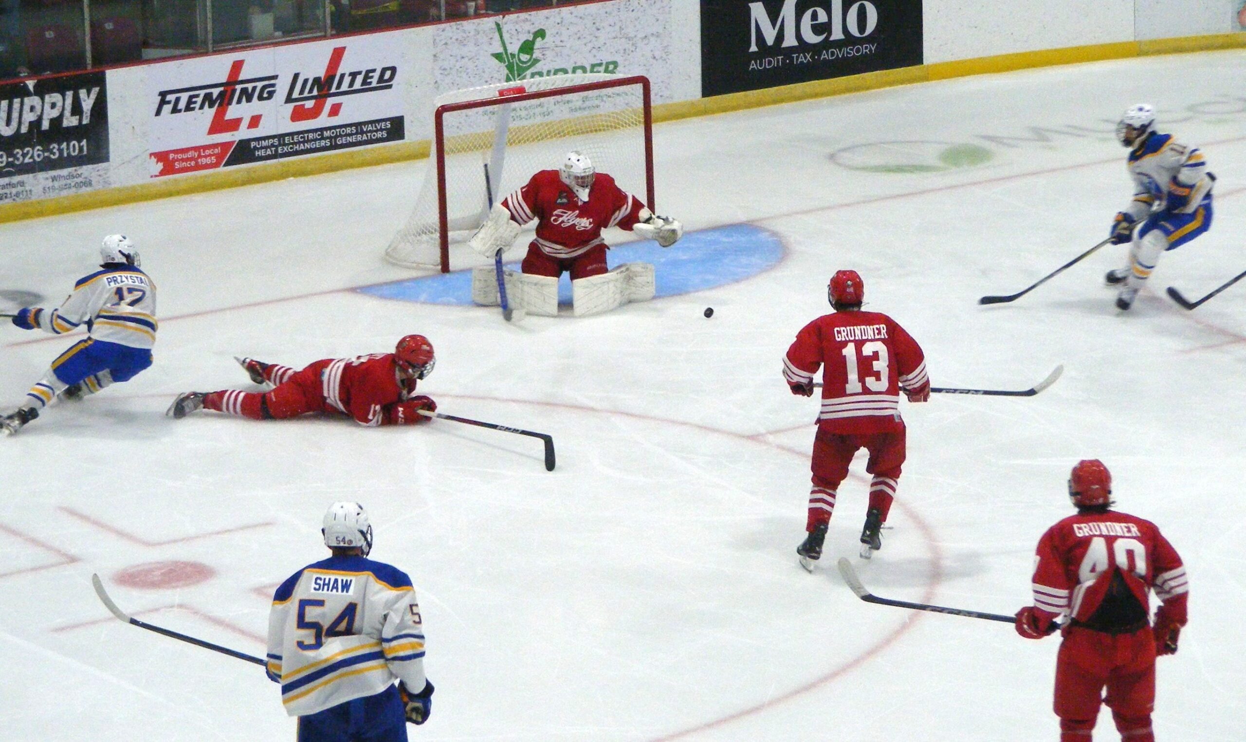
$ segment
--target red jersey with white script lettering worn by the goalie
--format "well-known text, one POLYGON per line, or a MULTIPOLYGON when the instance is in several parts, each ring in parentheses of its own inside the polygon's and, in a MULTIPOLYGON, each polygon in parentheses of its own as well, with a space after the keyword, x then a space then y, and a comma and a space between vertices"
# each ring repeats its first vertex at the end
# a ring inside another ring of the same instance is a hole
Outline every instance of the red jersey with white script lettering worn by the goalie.
POLYGON ((588 192, 588 200, 579 200, 558 171, 541 171, 527 186, 502 200, 518 224, 537 219, 533 240, 551 258, 574 258, 603 244, 602 229, 632 229, 639 220, 644 203, 621 189, 614 178, 597 173, 588 192))

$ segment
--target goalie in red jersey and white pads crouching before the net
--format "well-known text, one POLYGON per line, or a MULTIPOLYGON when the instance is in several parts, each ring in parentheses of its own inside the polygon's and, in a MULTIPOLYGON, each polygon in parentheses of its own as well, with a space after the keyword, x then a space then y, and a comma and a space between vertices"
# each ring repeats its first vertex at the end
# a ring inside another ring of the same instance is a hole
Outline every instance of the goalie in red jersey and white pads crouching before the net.
MULTIPOLYGON (((616 309, 628 301, 653 299, 653 265, 624 263, 606 269, 602 230, 618 227, 669 248, 683 235, 677 219, 657 217, 644 203, 619 188, 614 178, 593 169, 579 152, 571 152, 556 171, 541 171, 527 186, 507 195, 468 243, 492 259, 515 243, 520 227, 536 219, 537 233, 523 258, 523 273, 506 273, 506 295, 528 314, 558 314, 558 276, 571 274, 572 305, 577 316, 616 309)), ((472 301, 498 303, 492 266, 472 273, 472 301)))

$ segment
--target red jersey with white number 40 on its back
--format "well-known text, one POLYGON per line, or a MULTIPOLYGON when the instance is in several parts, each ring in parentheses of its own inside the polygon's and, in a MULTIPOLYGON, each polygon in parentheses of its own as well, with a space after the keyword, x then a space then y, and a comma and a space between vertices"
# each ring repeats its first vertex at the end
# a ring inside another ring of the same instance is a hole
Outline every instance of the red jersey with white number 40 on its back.
POLYGON ((1034 606, 1055 619, 1115 632, 1146 625, 1150 590, 1185 624, 1189 583, 1176 549, 1150 520, 1128 513, 1079 513, 1038 542, 1034 606))

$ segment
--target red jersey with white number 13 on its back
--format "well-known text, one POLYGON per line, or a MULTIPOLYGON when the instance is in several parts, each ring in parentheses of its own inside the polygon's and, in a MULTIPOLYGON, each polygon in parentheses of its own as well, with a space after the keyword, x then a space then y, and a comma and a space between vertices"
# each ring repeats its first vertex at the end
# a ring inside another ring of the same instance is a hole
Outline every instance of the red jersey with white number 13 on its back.
POLYGON ((903 430, 900 391, 918 395, 930 387, 921 346, 877 311, 837 311, 805 325, 787 349, 784 377, 809 385, 824 365, 817 420, 829 433, 903 430))

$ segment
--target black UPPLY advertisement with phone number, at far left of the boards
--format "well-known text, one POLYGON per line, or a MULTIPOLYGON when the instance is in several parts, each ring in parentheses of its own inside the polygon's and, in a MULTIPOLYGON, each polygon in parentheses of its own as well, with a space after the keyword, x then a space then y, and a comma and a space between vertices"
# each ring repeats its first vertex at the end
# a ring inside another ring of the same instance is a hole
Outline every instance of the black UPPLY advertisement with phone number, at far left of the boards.
POLYGON ((103 72, 0 85, 0 203, 107 186, 103 72))

